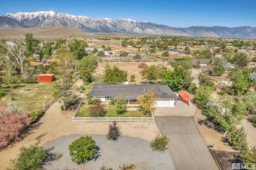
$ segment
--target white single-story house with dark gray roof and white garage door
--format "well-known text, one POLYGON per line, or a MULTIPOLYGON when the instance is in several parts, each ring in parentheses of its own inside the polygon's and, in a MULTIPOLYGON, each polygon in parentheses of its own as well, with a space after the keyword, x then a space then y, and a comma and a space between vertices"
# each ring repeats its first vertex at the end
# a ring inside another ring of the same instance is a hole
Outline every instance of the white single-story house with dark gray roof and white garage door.
POLYGON ((87 96, 99 97, 102 102, 109 102, 111 98, 119 99, 119 95, 123 93, 130 106, 137 102, 137 97, 141 93, 152 89, 156 90, 156 96, 159 97, 156 107, 174 107, 175 100, 180 99, 180 96, 174 94, 169 86, 164 84, 94 84, 87 96))

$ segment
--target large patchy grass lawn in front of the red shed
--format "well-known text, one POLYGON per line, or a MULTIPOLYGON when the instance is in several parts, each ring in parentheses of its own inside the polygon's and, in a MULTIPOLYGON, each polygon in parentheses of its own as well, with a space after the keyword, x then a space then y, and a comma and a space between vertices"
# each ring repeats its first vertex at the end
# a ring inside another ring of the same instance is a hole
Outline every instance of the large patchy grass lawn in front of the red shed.
POLYGON ((17 102, 18 106, 26 110, 42 108, 48 101, 54 99, 52 92, 54 91, 52 83, 40 82, 38 84, 27 84, 22 86, 10 86, 6 88, 9 92, 6 96, 0 99, 0 102, 7 104, 10 102, 17 102), (20 102, 20 103, 19 103, 20 102))

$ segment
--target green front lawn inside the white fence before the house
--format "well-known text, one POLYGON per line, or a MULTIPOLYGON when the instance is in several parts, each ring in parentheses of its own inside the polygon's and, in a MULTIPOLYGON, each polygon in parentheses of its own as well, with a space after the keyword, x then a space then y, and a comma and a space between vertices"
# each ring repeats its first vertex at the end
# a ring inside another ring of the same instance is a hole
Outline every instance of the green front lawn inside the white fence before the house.
MULTIPOLYGON (((88 107, 88 104, 82 104, 76 117, 90 117, 90 113, 87 111, 88 107)), ((151 115, 143 115, 142 111, 138 110, 128 110, 126 113, 118 115, 115 106, 106 106, 106 111, 108 112, 106 117, 151 117, 151 115)))

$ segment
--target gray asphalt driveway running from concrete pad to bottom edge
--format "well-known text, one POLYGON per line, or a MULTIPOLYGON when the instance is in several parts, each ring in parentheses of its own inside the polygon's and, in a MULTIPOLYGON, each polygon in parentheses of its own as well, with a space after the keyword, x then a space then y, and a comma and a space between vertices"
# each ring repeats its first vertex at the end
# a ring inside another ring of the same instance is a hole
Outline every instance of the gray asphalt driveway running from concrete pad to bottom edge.
POLYGON ((170 139, 168 149, 176 170, 218 170, 192 116, 155 116, 162 135, 170 139))

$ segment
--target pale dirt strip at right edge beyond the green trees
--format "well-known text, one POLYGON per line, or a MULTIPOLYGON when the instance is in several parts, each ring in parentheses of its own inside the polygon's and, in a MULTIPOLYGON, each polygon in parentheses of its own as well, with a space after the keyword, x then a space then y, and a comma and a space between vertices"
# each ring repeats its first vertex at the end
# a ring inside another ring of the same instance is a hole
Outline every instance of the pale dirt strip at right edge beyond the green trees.
POLYGON ((256 146, 256 127, 252 125, 249 121, 243 119, 242 120, 242 125, 244 126, 246 139, 249 147, 254 147, 256 146))

